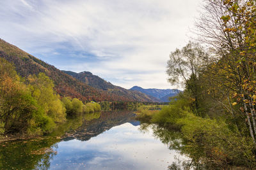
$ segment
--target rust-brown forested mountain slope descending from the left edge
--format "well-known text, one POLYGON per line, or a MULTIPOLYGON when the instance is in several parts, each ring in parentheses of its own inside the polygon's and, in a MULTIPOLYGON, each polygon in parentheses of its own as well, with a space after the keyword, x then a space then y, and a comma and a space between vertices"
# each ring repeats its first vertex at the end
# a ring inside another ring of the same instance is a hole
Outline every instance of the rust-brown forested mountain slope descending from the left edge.
POLYGON ((55 90, 60 96, 76 97, 82 101, 137 101, 136 99, 138 99, 138 101, 152 102, 147 95, 137 98, 127 97, 92 87, 20 50, 17 46, 7 43, 3 39, 0 39, 0 57, 11 62, 15 66, 17 73, 22 77, 26 78, 30 74, 38 74, 40 72, 45 73, 54 81, 55 90))

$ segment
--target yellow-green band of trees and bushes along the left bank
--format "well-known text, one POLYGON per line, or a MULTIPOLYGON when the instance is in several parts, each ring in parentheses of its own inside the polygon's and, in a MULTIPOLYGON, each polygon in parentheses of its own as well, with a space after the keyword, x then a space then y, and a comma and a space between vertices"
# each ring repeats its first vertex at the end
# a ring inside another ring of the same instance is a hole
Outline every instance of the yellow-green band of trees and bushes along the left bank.
POLYGON ((0 135, 37 136, 52 132, 67 115, 100 111, 98 103, 61 97, 44 73, 21 78, 0 58, 0 135))

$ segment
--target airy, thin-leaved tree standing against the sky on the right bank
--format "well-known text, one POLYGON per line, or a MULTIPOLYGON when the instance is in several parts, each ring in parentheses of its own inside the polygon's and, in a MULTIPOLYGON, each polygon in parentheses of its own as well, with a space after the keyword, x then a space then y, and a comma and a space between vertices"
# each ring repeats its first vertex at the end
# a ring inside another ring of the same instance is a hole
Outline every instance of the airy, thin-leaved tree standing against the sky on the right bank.
POLYGON ((174 84, 185 85, 195 100, 195 112, 198 111, 198 76, 208 61, 209 55, 202 46, 189 42, 181 50, 176 49, 170 54, 166 73, 168 81, 174 84))

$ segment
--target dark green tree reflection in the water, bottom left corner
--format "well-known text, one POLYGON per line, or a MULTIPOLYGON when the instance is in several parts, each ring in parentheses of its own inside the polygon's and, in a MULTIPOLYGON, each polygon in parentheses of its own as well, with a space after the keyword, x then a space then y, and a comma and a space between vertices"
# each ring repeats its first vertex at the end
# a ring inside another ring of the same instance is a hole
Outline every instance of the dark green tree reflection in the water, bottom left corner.
POLYGON ((0 169, 48 169, 56 152, 54 148, 60 139, 38 138, 1 143, 0 169), (45 151, 38 151, 45 148, 45 151))

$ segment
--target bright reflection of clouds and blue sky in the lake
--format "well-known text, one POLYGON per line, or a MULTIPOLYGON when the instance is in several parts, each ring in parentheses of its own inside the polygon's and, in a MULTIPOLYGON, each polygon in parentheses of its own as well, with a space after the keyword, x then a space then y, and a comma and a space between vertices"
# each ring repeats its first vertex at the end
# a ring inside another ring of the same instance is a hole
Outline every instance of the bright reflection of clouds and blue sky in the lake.
POLYGON ((55 164, 61 164, 63 169, 83 169, 84 166, 79 167, 81 163, 86 169, 167 169, 175 157, 185 159, 155 139, 151 130, 142 133, 129 123, 113 127, 89 141, 74 139, 58 146, 58 155, 51 163, 53 169, 57 168, 55 164))

